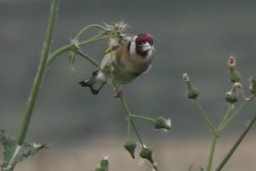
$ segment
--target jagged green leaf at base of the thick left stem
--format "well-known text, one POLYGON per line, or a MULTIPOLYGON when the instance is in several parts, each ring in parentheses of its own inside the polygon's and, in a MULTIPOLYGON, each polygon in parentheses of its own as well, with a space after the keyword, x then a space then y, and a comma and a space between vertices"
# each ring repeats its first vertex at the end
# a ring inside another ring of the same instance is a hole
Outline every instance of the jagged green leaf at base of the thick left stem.
POLYGON ((39 149, 47 148, 46 144, 23 143, 22 145, 18 145, 18 142, 12 136, 5 134, 2 129, 0 129, 0 143, 4 147, 4 162, 1 165, 2 171, 13 171, 15 165, 23 161, 25 157, 36 154, 39 149))

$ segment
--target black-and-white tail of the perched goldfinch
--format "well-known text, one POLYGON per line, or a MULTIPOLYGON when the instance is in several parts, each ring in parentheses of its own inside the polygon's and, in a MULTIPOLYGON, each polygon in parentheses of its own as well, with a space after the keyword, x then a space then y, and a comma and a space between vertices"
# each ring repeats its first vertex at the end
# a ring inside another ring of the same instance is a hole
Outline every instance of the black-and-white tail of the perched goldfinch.
POLYGON ((97 95, 106 82, 98 77, 98 71, 94 72, 92 75, 90 79, 79 82, 79 84, 83 87, 89 87, 92 94, 97 95))

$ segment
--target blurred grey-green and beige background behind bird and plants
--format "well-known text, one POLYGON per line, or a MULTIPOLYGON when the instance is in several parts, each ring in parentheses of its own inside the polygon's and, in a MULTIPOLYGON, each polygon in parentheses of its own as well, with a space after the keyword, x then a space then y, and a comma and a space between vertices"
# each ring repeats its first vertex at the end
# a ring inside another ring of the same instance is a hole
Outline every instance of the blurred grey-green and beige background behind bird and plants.
MULTIPOLYGON (((40 61, 48 25, 50 0, 0 1, 0 127, 14 137, 40 61)), ((172 119, 172 131, 164 134, 151 122, 136 120, 144 143, 154 148, 161 171, 193 171, 205 168, 211 132, 193 100, 186 97, 182 74, 200 89, 199 101, 217 126, 227 109, 225 93, 232 84, 227 60, 236 58, 244 92, 249 96, 249 78, 256 75, 256 1, 203 0, 60 0, 51 52, 68 45, 90 24, 124 21, 126 33, 150 33, 155 37, 154 60, 148 74, 123 86, 134 114, 172 119)), ((92 30, 83 39, 93 37, 92 30)), ((100 61, 107 42, 83 47, 100 61)), ((78 85, 95 68, 81 58, 71 71, 69 53, 53 61, 45 73, 29 131, 28 142, 50 143, 49 150, 18 164, 17 171, 93 171, 103 156, 109 156, 110 171, 150 171, 139 157, 130 159, 123 149, 127 141, 127 114, 113 88, 105 85, 94 96, 78 85)), ((235 108, 240 102, 235 104, 235 108)), ((215 168, 256 114, 252 101, 218 141, 215 168)), ((224 171, 256 170, 256 128, 252 128, 224 171)), ((137 141, 134 136, 134 141, 137 141)), ((139 147, 136 151, 138 156, 139 147)), ((2 156, 0 157, 2 160, 2 156)))

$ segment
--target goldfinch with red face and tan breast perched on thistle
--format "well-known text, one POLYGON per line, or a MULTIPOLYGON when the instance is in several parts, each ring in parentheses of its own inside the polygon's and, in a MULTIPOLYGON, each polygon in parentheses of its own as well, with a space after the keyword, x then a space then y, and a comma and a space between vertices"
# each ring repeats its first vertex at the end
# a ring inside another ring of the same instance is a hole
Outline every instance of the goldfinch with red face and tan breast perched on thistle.
POLYGON ((89 87, 94 95, 110 79, 118 85, 127 84, 151 67, 153 50, 153 38, 149 34, 136 35, 106 51, 100 68, 92 73, 90 79, 79 84, 89 87))

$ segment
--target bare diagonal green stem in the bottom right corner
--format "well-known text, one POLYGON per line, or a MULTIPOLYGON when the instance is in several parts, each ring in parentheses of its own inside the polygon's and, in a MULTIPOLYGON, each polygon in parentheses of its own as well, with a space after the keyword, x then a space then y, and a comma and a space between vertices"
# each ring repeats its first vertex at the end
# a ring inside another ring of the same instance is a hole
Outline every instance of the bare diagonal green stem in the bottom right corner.
POLYGON ((230 149, 230 151, 228 152, 228 154, 226 155, 226 157, 223 159, 223 161, 218 165, 217 169, 215 171, 221 171, 221 169, 225 166, 225 164, 227 163, 227 161, 229 160, 229 158, 233 155, 234 151, 237 149, 237 147, 240 145, 241 141, 243 140, 243 138, 246 136, 246 134, 248 133, 248 131, 251 129, 251 127, 253 126, 253 124, 256 121, 256 116, 254 116, 254 118, 250 121, 250 124, 248 125, 248 127, 244 130, 244 132, 241 134, 241 136, 239 137, 239 139, 235 142, 234 146, 232 147, 232 149, 230 149))

